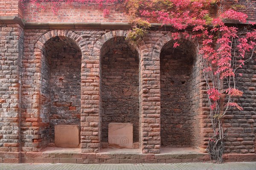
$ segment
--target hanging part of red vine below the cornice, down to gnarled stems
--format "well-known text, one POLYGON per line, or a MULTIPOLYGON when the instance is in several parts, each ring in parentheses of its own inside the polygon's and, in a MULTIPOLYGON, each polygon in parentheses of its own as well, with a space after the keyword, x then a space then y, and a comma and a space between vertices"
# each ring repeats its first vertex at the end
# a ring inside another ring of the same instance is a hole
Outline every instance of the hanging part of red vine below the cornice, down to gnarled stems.
POLYGON ((224 133, 222 119, 231 108, 243 110, 235 101, 243 92, 236 86, 239 68, 256 54, 256 30, 225 26, 222 21, 210 31, 204 30, 200 46, 201 63, 206 80, 213 135, 207 152, 211 159, 222 162, 224 133), (222 87, 224 84, 224 87, 222 87), (222 102, 221 102, 222 98, 222 102), (223 99, 226 99, 223 105, 223 99))

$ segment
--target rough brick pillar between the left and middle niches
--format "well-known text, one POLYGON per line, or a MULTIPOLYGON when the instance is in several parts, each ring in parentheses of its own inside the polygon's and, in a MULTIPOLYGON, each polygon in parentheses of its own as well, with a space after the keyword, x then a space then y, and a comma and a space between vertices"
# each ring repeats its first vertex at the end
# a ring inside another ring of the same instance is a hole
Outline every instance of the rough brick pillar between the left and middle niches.
POLYGON ((81 151, 99 152, 99 60, 82 59, 81 71, 81 151))

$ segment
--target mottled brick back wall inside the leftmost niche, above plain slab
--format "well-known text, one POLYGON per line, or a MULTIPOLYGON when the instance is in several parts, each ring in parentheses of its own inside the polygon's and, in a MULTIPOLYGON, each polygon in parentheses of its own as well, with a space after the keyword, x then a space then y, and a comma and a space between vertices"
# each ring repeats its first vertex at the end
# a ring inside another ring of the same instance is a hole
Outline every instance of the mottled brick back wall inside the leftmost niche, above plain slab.
MULTIPOLYGON (((80 125, 81 117, 81 51, 71 39, 54 37, 47 41, 49 68, 49 105, 44 113, 50 120, 54 142, 54 125, 80 125)), ((46 106, 45 106, 46 107, 46 106)))

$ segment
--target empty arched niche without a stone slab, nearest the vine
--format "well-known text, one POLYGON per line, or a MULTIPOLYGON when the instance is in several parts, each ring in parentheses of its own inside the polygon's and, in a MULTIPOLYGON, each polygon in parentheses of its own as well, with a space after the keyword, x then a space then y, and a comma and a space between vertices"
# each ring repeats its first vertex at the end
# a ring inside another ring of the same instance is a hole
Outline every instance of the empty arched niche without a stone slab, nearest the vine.
POLYGON ((168 52, 169 43, 175 41, 172 33, 161 37, 152 52, 152 56, 160 59, 161 146, 200 148, 203 140, 198 133, 201 129, 198 117, 206 101, 199 47, 191 36, 180 33, 179 37, 181 45, 176 53, 168 52), (179 96, 175 97, 177 92, 179 96))

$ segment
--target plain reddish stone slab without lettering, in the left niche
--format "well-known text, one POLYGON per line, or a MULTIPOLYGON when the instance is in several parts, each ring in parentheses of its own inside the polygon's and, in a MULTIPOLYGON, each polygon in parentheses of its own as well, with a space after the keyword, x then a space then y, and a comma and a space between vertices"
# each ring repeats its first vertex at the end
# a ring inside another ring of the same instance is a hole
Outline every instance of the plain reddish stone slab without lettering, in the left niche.
POLYGON ((78 125, 55 125, 55 146, 79 147, 79 130, 78 125))

